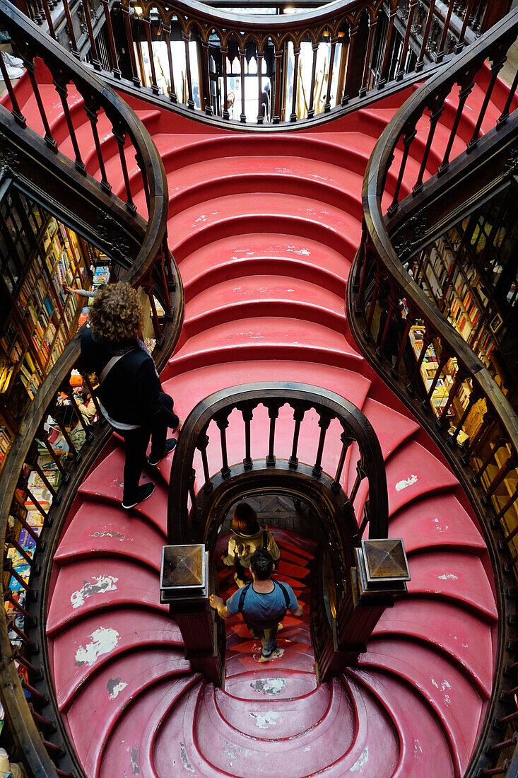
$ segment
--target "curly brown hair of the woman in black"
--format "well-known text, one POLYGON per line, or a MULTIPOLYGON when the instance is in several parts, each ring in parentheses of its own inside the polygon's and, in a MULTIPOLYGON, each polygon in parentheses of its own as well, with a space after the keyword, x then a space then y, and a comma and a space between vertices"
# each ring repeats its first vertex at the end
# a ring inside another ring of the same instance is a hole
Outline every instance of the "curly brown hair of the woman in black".
POLYGON ((136 289, 119 281, 100 287, 93 299, 89 323, 96 338, 120 343, 138 338, 143 317, 136 289))

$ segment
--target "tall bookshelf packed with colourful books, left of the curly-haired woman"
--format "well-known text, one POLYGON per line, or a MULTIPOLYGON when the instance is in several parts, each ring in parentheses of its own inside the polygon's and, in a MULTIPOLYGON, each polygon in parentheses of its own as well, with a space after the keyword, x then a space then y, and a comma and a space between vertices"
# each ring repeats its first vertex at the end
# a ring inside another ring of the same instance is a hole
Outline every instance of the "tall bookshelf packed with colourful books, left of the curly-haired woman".
POLYGON ((65 286, 84 289, 90 277, 84 241, 11 185, 0 202, 0 468, 19 418, 77 330, 81 298, 65 286))

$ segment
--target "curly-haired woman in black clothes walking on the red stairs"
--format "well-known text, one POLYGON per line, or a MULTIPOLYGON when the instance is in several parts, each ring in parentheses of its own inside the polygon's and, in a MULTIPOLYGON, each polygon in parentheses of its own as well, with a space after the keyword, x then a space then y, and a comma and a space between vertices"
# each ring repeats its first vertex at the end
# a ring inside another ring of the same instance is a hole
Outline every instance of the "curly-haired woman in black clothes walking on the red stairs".
POLYGON ((101 286, 89 314, 89 328, 81 335, 81 366, 96 373, 103 415, 124 437, 123 508, 133 508, 152 495, 155 485, 138 485, 151 438, 148 463, 156 465, 177 441, 167 439, 167 428, 180 419, 173 399, 162 391, 151 354, 140 338, 143 310, 135 289, 118 282, 101 286))

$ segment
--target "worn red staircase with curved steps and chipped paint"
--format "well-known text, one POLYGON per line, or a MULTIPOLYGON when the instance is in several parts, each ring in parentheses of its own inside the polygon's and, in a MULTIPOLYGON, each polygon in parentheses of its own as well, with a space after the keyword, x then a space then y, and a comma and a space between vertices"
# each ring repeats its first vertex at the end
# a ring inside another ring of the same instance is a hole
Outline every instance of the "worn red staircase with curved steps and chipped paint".
MULTIPOLYGON (((491 119, 503 92, 493 94, 491 119)), ((470 99, 480 105, 483 96, 481 84, 470 99)), ((226 684, 215 689, 191 673, 179 630, 159 604, 170 461, 149 470, 155 493, 126 513, 124 453, 114 436, 68 517, 47 615, 61 715, 92 778, 464 773, 492 684, 491 566, 457 479, 359 355, 344 311, 362 174, 403 100, 277 134, 218 131, 135 106, 166 166, 170 247, 185 286, 184 332, 163 372, 177 412, 185 418, 213 391, 259 380, 316 384, 358 405, 380 437, 390 536, 404 538, 411 582, 358 666, 317 685, 308 615, 314 546, 276 531, 279 577, 296 588, 305 615, 285 619, 281 655, 268 664, 259 664, 257 642, 233 617, 226 684)), ((35 108, 29 100, 22 110, 32 116, 35 108)), ((66 150, 55 100, 47 111, 66 150)), ((453 115, 454 99, 439 132, 453 115)), ((470 137, 463 122, 460 137, 470 137)), ((86 129, 83 159, 95 170, 86 129)), ((424 143, 422 130, 411 147, 415 167, 424 143)), ((129 156, 128 166, 136 180, 129 156)), ((142 201, 141 192, 135 202, 142 201)), ((301 435, 300 460, 311 461, 303 452, 315 446, 301 435)), ((357 504, 364 499, 360 489, 357 504)), ((220 586, 223 596, 233 591, 224 572, 220 586)))

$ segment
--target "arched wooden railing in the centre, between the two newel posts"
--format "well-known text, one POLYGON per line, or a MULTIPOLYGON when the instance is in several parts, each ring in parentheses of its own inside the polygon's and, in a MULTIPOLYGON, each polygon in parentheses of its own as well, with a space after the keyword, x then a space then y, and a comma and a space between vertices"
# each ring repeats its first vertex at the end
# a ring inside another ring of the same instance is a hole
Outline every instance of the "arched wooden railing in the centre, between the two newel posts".
MULTIPOLYGON (((327 600, 332 591, 332 607, 321 592, 312 624, 320 678, 327 678, 338 656, 343 666, 361 650, 349 645, 347 629, 354 548, 367 525, 369 538, 387 538, 387 479, 376 433, 359 408, 319 387, 273 381, 216 392, 184 422, 170 478, 169 543, 205 544, 212 559, 230 507, 254 492, 292 494, 320 518, 328 562, 323 590, 327 600), (299 436, 315 441, 314 460, 299 460, 299 436), (354 482, 345 486, 354 466, 354 482)), ((213 612, 173 612, 195 669, 218 682, 224 634, 215 637, 213 612)), ((356 636, 362 643, 361 628, 356 636)))

